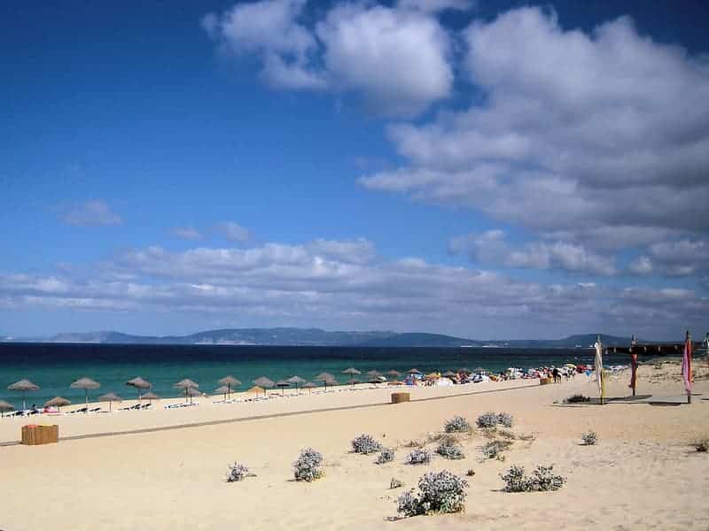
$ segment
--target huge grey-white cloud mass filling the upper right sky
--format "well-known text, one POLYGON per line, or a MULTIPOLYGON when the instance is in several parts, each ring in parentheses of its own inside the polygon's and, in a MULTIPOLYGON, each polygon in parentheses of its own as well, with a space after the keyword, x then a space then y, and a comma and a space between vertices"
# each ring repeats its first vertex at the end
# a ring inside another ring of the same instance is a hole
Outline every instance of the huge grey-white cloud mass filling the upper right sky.
POLYGON ((709 63, 627 18, 587 34, 524 8, 464 32, 484 97, 388 135, 407 165, 370 189, 464 206, 545 237, 636 248, 709 229, 709 63), (621 227, 616 230, 616 227, 621 227))

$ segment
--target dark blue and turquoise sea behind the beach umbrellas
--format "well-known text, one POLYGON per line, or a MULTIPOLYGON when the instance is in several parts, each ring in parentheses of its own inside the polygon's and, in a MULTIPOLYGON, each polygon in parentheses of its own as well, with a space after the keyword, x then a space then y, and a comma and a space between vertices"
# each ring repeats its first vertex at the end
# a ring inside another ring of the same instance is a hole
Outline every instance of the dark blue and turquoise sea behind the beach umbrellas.
MULTIPOLYGON (((125 345, 101 343, 0 343, 0 399, 15 407, 22 405, 20 392, 7 390, 14 381, 27 378, 41 389, 27 393, 27 405, 43 404, 53 396, 64 396, 74 404, 83 401, 82 389, 70 384, 83 376, 101 384, 90 398, 114 392, 134 398, 136 390, 125 384, 136 376, 152 382, 152 392, 168 398, 180 396, 174 384, 190 378, 199 389, 211 392, 228 374, 242 384, 267 376, 273 381, 297 374, 313 381, 327 372, 345 383, 349 367, 364 373, 377 370, 405 373, 417 368, 425 373, 456 371, 461 367, 483 367, 499 373, 508 367, 523 369, 562 366, 565 363, 593 364, 592 349, 506 349, 506 348, 349 348, 273 347, 235 345, 125 345)), ((627 363, 627 355, 607 354, 604 365, 627 363)), ((316 382, 318 383, 318 382, 316 382)))

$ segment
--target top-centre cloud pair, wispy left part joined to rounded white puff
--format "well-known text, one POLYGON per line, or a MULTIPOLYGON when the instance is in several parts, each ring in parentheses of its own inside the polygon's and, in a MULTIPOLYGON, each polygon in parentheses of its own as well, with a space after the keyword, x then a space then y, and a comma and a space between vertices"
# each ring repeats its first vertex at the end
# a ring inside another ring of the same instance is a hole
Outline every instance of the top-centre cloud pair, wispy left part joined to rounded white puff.
POLYGON ((376 112, 411 116, 453 86, 449 37, 430 13, 467 5, 343 3, 308 26, 304 0, 261 0, 208 13, 202 27, 222 53, 258 58, 261 78, 273 87, 352 92, 376 112))

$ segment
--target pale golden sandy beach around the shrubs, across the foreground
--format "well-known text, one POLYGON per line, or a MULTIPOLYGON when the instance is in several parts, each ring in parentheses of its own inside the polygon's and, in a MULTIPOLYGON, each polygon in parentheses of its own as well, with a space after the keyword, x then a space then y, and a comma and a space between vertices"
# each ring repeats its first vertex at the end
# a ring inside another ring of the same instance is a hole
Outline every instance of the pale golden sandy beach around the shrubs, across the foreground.
MULTIPOLYGON (((697 359, 695 371, 695 392, 709 396, 705 360, 697 359)), ((679 373, 674 362, 642 366, 638 394, 682 396, 679 373)), ((412 402, 396 405, 386 404, 391 392, 306 393, 241 404, 200 397, 199 406, 181 410, 166 410, 161 402, 152 411, 38 419, 58 423, 62 436, 214 424, 0 447, 0 529, 706 528, 709 455, 688 445, 709 436, 703 396, 675 406, 561 404, 574 393, 596 396, 596 383, 584 376, 547 386, 506 381, 417 388, 412 402), (312 412, 331 408, 339 409, 312 412), (483 460, 487 435, 473 430, 461 439, 462 460, 435 456, 427 466, 404 464, 412 440, 432 440, 456 414, 474 423, 487 411, 514 416, 518 439, 504 461, 483 460), (589 428, 599 443, 582 446, 580 435, 589 428), (394 461, 377 466, 376 456, 352 453, 350 441, 362 433, 396 448, 394 461), (323 453, 325 475, 312 483, 292 481, 292 462, 307 446, 323 453), (256 477, 227 483, 234 461, 256 477), (499 474, 516 464, 553 464, 567 483, 556 492, 505 493, 499 474), (466 478, 465 512, 397 518, 397 496, 426 471, 442 469, 463 476, 475 471, 466 478), (393 477, 405 487, 389 489, 393 477)), ((627 373, 612 375, 607 394, 627 396, 627 373)), ((3 419, 0 441, 17 440, 27 422, 3 419)))

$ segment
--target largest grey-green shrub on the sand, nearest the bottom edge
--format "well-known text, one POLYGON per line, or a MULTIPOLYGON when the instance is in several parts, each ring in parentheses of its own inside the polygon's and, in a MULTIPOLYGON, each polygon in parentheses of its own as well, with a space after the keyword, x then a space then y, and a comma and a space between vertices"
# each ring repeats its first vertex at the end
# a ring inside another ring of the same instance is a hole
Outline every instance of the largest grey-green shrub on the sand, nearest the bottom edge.
POLYGON ((418 480, 418 496, 412 491, 399 497, 397 510, 406 516, 431 512, 461 512, 465 507, 468 482, 454 473, 425 473, 418 480))

